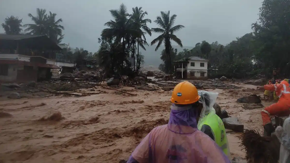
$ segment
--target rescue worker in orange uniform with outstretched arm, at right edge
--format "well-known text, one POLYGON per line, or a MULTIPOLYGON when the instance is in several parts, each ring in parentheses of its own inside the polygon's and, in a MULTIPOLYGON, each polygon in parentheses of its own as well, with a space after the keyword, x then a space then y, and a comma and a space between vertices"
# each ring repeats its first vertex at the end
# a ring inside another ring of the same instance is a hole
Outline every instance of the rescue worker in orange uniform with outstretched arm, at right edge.
POLYGON ((290 87, 289 79, 284 79, 280 84, 267 84, 264 87, 265 90, 275 91, 279 97, 277 103, 272 104, 261 111, 264 135, 271 136, 271 133, 275 131, 274 126, 271 123, 271 115, 277 115, 280 117, 288 116, 290 114, 290 87))

